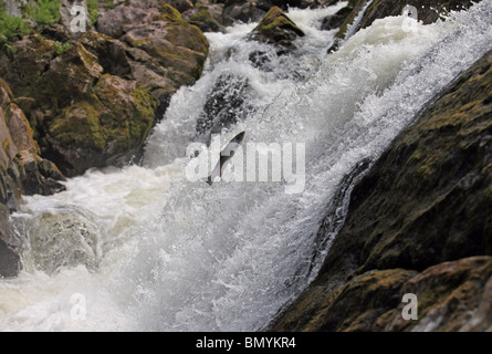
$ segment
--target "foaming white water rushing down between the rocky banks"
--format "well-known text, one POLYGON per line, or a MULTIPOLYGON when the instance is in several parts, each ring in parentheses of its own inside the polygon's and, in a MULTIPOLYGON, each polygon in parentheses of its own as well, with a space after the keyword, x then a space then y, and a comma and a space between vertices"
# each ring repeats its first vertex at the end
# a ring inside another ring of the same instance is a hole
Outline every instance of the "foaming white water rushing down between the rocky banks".
POLYGON ((12 216, 24 269, 0 280, 0 330, 265 329, 315 277, 331 243, 317 230, 344 176, 492 48, 492 6, 482 1, 430 25, 378 20, 328 55, 334 31, 318 28, 343 6, 291 9, 306 33, 293 55, 247 41, 254 23, 207 33, 203 75, 174 95, 140 166, 90 170, 66 191, 25 198, 12 216), (237 102, 218 113, 233 121, 221 143, 244 131, 244 146, 304 146, 293 169, 305 167, 302 188, 286 192, 285 176, 189 178, 187 147, 221 132, 205 124, 218 91, 237 102))

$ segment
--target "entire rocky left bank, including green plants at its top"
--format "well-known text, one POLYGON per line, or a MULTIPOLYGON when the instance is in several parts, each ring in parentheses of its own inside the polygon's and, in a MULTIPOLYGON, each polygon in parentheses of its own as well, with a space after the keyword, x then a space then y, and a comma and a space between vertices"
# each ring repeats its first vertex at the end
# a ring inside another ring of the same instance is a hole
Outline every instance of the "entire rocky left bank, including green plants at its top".
MULTIPOLYGON (((207 54, 202 32, 164 1, 0 1, 2 252, 11 251, 8 217, 22 195, 136 160, 207 54), (72 31, 75 4, 85 32, 72 31)), ((0 275, 19 268, 3 266, 0 275)))

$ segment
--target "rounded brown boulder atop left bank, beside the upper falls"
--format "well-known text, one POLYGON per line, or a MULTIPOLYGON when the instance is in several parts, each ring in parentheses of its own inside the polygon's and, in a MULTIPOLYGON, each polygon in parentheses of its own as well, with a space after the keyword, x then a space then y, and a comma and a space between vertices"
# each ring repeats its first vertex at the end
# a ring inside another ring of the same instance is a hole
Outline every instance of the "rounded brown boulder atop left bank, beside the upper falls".
POLYGON ((171 94, 200 77, 208 55, 203 33, 179 11, 157 0, 130 0, 106 9, 97 30, 125 43, 133 77, 159 102, 157 118, 171 94))

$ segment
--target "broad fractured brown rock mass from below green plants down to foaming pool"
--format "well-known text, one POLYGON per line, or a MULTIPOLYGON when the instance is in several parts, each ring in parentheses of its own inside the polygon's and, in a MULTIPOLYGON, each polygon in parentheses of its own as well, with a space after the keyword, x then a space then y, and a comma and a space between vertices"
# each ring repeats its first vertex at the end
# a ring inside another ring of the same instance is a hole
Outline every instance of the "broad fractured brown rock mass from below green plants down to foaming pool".
POLYGON ((139 150, 157 102, 130 79, 121 42, 94 32, 64 44, 33 34, 12 46, 0 53, 0 72, 19 96, 42 155, 65 176, 124 164, 139 150))

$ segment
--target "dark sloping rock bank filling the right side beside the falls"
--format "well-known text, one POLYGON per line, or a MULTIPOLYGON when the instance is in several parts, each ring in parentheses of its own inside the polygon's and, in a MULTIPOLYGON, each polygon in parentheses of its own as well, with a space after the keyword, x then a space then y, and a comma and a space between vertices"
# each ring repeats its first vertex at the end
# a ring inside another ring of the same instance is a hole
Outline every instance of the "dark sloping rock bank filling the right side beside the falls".
POLYGON ((492 327, 491 92, 489 52, 354 187, 320 274, 273 331, 492 327), (401 317, 405 293, 418 320, 401 317))

